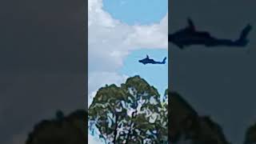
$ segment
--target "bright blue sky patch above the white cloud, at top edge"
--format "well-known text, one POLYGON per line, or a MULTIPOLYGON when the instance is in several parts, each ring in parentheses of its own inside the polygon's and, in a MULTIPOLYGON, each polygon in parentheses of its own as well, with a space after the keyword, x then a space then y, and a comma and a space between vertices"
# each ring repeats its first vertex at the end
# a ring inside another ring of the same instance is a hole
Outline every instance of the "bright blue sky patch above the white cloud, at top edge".
POLYGON ((167 0, 103 0, 103 9, 129 25, 159 22, 167 13, 167 0))

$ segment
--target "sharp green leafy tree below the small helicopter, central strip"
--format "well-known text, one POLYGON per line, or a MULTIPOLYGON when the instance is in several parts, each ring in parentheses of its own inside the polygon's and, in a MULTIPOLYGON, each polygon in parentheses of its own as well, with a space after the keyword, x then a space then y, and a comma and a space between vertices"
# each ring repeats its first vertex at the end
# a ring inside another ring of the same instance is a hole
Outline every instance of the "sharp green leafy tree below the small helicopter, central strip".
POLYGON ((139 76, 128 78, 121 87, 98 90, 89 107, 90 129, 96 127, 107 143, 167 143, 168 102, 139 76))

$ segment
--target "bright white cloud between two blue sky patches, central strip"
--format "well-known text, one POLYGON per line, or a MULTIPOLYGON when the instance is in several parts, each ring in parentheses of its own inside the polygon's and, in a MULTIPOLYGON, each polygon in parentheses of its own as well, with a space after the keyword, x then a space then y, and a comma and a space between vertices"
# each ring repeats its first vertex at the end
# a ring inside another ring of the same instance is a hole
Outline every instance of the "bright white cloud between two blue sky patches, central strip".
POLYGON ((168 48, 168 14, 158 23, 129 26, 102 7, 102 0, 88 1, 89 102, 101 86, 125 82, 117 70, 131 50, 168 48))

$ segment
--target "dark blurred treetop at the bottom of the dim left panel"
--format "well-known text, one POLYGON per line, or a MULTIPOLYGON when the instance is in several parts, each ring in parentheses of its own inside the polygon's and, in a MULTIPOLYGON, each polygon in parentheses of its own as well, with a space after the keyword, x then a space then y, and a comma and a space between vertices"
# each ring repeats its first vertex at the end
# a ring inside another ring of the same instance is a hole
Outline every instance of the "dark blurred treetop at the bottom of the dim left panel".
POLYGON ((26 144, 84 144, 86 137, 86 110, 76 110, 64 116, 58 110, 52 120, 43 120, 34 126, 26 139, 26 144))

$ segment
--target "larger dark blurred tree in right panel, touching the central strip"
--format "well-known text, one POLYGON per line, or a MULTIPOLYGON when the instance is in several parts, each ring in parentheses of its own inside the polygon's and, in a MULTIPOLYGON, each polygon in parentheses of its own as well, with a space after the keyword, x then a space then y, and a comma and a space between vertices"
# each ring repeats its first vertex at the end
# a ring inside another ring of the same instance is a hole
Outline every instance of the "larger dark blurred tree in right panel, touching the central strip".
POLYGON ((178 93, 170 92, 170 143, 230 144, 221 126, 209 116, 200 116, 178 93))

